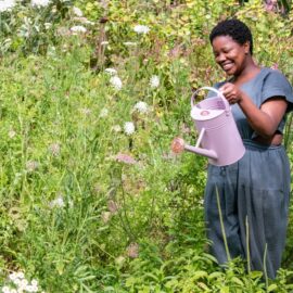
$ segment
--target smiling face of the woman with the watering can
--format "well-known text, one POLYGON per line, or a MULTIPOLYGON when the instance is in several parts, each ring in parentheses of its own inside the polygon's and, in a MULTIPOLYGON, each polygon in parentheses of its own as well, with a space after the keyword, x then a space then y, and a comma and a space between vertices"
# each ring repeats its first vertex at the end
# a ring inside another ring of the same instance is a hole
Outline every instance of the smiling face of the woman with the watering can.
POLYGON ((250 54, 250 42, 240 44, 230 36, 218 36, 213 40, 216 62, 228 75, 240 75, 250 54))

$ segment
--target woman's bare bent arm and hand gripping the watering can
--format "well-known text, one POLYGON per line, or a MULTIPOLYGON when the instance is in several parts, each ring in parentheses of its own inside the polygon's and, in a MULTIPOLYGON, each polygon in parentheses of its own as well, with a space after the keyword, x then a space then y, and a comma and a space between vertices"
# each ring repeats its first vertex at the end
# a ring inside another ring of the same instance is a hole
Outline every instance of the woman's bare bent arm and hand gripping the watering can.
POLYGON ((271 138, 285 114, 288 102, 282 97, 271 97, 260 109, 238 86, 227 82, 219 89, 230 104, 238 103, 251 127, 263 138, 271 138))

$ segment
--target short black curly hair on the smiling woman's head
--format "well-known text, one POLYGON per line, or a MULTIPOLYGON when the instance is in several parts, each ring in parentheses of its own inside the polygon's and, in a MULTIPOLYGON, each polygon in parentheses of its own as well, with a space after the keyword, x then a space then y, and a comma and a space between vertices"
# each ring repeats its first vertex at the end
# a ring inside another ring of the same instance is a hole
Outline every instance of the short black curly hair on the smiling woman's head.
POLYGON ((211 43, 218 36, 229 36, 235 42, 244 44, 250 42, 250 52, 253 54, 253 38, 251 29, 241 21, 232 18, 218 23, 209 34, 211 43))

